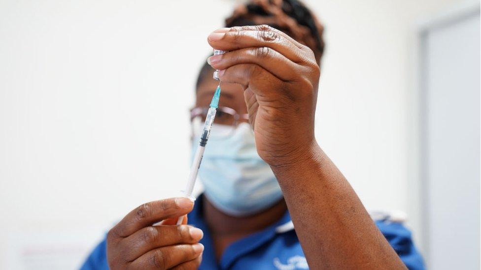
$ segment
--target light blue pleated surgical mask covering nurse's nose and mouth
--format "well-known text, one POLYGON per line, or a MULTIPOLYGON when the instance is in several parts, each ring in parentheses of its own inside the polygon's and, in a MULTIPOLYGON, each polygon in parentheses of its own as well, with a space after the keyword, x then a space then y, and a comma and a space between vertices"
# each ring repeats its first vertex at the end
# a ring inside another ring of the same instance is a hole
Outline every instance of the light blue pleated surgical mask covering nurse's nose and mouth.
MULTIPOLYGON (((282 192, 271 167, 257 154, 250 125, 239 124, 228 137, 215 136, 227 128, 232 127, 212 126, 199 169, 204 194, 217 209, 233 216, 250 215, 273 206, 282 198, 282 192)), ((197 145, 194 140, 192 156, 197 145)))

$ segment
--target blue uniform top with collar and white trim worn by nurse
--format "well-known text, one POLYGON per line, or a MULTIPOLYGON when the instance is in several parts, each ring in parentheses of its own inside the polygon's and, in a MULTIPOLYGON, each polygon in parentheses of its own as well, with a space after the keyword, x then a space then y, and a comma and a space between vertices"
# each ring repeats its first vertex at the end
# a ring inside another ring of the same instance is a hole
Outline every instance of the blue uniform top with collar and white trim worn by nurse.
MULTIPOLYGON (((200 241, 205 246, 200 270, 308 269, 288 211, 275 224, 232 243, 224 250, 219 262, 215 259, 212 240, 202 217, 202 196, 188 214, 188 220, 189 224, 204 232, 204 238, 200 241)), ((376 225, 408 269, 424 269, 421 255, 414 247, 408 229, 401 223, 388 220, 378 220, 376 225)), ((92 251, 81 270, 108 270, 105 239, 92 251)))

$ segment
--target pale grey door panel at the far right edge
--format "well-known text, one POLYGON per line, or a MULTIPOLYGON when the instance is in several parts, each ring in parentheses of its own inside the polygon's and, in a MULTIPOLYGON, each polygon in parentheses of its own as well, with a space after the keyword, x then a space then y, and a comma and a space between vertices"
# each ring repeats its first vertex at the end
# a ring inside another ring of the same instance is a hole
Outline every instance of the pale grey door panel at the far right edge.
POLYGON ((448 15, 422 38, 422 234, 429 269, 479 270, 480 5, 448 15))

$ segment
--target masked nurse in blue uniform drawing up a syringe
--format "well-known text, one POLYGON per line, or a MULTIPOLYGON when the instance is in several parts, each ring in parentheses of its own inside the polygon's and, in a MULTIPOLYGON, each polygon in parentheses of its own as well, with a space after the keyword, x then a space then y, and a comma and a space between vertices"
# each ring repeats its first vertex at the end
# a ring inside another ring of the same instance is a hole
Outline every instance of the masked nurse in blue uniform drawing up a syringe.
POLYGON ((226 26, 207 37, 229 52, 208 58, 191 111, 195 133, 220 70, 205 192, 132 210, 82 269, 423 269, 401 220, 373 219, 314 138, 324 44, 309 9, 256 0, 226 26))

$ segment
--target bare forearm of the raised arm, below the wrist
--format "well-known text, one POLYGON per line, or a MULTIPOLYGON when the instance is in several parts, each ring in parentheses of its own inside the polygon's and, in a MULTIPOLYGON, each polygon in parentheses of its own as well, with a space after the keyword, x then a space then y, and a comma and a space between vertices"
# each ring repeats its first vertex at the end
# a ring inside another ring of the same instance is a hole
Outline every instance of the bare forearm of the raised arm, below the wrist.
POLYGON ((272 166, 311 269, 405 269, 356 193, 316 143, 272 166), (302 157, 301 157, 302 156, 302 157))

